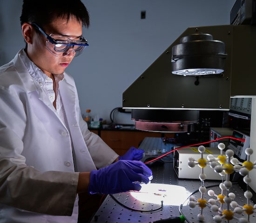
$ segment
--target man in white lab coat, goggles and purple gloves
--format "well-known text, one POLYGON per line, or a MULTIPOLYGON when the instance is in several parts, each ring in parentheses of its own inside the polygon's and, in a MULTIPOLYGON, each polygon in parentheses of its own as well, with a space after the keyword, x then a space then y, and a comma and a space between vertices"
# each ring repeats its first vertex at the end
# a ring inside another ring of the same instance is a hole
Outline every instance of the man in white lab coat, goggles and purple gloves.
POLYGON ((81 1, 24 0, 20 23, 26 47, 0 67, 0 223, 76 223, 77 194, 140 190, 152 172, 143 151, 119 157, 81 118, 65 72, 88 46, 81 1))

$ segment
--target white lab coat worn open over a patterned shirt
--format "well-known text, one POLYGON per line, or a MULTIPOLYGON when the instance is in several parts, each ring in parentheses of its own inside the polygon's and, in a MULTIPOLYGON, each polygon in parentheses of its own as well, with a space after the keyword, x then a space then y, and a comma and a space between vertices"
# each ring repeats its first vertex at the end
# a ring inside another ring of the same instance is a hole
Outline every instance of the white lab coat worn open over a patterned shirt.
POLYGON ((0 67, 0 223, 75 223, 78 172, 118 155, 88 131, 74 79, 59 83, 68 131, 20 53, 0 67))

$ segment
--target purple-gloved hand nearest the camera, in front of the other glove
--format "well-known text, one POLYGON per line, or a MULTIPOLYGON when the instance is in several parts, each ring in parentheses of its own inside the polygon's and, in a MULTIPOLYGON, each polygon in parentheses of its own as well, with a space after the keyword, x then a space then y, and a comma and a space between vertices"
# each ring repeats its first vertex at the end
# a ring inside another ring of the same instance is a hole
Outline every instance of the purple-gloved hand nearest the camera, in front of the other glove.
POLYGON ((148 184, 152 171, 141 161, 119 160, 98 171, 91 171, 90 194, 115 194, 128 190, 141 190, 136 182, 148 184))

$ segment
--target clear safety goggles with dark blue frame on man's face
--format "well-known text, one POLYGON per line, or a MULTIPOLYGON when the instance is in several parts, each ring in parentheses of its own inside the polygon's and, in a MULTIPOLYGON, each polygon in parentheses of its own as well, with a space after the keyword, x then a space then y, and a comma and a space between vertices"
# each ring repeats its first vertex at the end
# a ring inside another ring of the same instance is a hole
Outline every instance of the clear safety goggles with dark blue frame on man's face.
POLYGON ((74 52, 74 56, 76 57, 81 54, 82 50, 86 46, 89 46, 87 40, 83 37, 80 37, 78 40, 56 39, 58 38, 57 35, 53 33, 48 35, 37 24, 32 23, 32 25, 35 26, 48 39, 45 46, 47 50, 53 53, 55 56, 66 56, 70 52, 74 52))

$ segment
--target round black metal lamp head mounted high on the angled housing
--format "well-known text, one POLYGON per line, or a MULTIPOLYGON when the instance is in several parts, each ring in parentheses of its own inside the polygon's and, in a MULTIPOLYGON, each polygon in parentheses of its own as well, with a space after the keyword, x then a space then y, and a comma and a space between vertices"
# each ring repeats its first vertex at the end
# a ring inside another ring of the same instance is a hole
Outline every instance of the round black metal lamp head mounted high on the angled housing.
POLYGON ((225 44, 211 34, 184 36, 172 47, 172 73, 182 76, 220 74, 227 57, 225 44))

